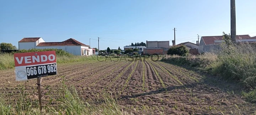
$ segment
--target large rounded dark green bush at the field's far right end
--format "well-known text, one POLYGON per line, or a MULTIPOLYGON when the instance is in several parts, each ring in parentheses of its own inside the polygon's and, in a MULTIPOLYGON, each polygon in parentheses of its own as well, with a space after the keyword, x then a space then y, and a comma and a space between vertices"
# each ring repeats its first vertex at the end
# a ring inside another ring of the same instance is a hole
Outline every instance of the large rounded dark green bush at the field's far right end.
POLYGON ((168 55, 187 56, 189 54, 189 51, 185 45, 175 45, 168 49, 167 54, 168 55))

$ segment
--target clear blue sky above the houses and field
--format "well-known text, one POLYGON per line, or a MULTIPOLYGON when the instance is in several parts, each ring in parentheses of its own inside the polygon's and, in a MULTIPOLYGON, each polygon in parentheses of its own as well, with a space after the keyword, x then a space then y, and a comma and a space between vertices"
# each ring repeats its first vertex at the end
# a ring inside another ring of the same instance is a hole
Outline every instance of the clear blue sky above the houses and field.
MULTIPOLYGON (((236 34, 256 35, 256 0, 236 0, 236 34)), ((74 38, 117 49, 132 42, 230 33, 230 0, 1 0, 0 43, 25 37, 46 42, 74 38)))

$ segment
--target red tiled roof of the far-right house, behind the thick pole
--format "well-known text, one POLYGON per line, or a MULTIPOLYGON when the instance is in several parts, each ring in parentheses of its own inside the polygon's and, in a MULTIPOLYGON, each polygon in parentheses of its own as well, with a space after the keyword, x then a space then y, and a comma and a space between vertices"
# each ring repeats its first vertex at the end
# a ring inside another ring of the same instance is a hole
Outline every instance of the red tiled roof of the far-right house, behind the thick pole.
MULTIPOLYGON (((223 36, 202 36, 206 45, 215 44, 214 40, 223 40, 223 36)), ((250 39, 250 35, 236 35, 236 39, 250 39)))

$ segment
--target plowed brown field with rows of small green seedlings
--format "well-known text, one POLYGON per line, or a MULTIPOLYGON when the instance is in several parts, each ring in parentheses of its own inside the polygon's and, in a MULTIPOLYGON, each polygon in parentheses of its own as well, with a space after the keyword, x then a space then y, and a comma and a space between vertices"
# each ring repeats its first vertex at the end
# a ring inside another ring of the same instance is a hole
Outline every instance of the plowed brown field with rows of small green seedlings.
MULTIPOLYGON (((46 86, 58 90, 61 76, 82 98, 103 90, 111 92, 122 109, 133 114, 255 114, 255 104, 222 86, 204 81, 204 76, 185 68, 150 59, 135 61, 87 61, 58 64, 58 75, 43 77, 46 86)), ((15 81, 14 69, 0 71, 0 92, 16 93, 24 82, 15 81)), ((36 80, 27 82, 27 92, 36 93, 36 80)), ((232 86, 229 86, 232 87, 232 86)), ((15 96, 15 95, 14 95, 15 96)))

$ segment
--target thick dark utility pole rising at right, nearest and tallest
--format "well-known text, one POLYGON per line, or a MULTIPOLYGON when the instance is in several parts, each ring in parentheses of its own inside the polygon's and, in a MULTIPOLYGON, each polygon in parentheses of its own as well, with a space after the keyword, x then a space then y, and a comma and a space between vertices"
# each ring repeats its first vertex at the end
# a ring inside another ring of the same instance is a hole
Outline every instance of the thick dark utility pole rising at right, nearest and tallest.
POLYGON ((231 40, 236 44, 235 0, 230 0, 231 40))

